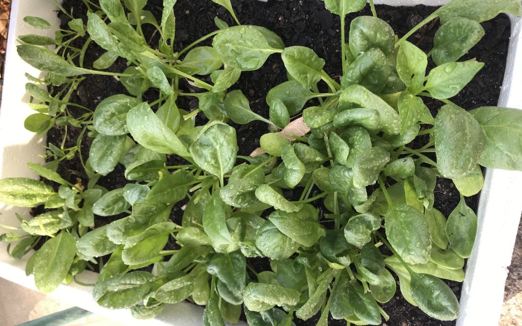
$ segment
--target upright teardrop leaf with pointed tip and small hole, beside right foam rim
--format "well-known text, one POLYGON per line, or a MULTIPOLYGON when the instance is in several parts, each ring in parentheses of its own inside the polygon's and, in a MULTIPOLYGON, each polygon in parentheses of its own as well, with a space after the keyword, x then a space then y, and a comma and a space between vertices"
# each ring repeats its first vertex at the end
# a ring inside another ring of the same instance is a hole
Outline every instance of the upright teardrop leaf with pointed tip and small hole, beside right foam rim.
POLYGON ((446 222, 449 245, 462 258, 468 258, 477 235, 477 215, 466 205, 464 197, 449 214, 446 222))

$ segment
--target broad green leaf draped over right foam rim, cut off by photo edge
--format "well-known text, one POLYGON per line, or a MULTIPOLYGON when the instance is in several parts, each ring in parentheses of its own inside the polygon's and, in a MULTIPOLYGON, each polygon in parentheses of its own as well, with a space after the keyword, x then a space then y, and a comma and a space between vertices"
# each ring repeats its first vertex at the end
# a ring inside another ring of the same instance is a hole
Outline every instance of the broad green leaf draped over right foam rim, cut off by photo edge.
MULTIPOLYGON (((479 164, 504 170, 522 170, 522 111, 484 106, 471 111, 485 134, 479 164)), ((466 196, 466 195, 465 195, 466 196)))

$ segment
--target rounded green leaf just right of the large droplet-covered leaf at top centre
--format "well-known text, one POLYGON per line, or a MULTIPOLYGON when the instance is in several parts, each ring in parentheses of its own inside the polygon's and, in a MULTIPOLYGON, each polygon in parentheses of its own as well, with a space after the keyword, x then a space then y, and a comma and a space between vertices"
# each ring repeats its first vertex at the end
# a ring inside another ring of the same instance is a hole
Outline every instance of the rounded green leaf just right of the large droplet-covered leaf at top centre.
POLYGON ((288 73, 306 88, 312 88, 321 80, 325 61, 310 48, 304 46, 286 47, 281 53, 288 73))

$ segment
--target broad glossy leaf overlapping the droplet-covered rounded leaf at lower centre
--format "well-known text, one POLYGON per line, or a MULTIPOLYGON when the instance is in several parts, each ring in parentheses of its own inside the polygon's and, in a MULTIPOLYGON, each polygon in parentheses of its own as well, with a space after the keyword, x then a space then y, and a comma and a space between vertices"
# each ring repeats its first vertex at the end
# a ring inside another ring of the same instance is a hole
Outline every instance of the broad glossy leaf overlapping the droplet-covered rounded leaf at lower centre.
POLYGON ((325 235, 324 228, 317 220, 318 214, 318 210, 306 204, 299 212, 287 213, 277 210, 271 213, 268 219, 282 234, 296 243, 312 247, 325 235))

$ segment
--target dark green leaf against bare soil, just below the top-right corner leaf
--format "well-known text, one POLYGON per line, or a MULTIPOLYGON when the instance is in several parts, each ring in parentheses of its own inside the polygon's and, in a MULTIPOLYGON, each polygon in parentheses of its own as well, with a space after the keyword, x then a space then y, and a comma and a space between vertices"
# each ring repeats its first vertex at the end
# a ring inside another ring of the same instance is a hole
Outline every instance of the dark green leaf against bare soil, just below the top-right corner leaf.
POLYGON ((477 21, 454 17, 435 33, 431 54, 437 65, 457 61, 484 36, 484 29, 477 21))

